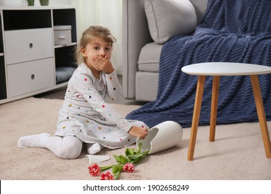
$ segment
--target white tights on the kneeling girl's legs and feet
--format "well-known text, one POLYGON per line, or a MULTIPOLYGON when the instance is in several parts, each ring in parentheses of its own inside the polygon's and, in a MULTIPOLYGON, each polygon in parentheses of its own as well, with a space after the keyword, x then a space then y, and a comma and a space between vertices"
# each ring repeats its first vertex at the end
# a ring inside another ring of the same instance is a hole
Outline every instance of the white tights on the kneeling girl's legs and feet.
MULTIPOLYGON (((83 141, 75 136, 50 136, 48 133, 22 136, 18 143, 19 148, 47 148, 57 157, 75 159, 81 154, 83 141)), ((95 155, 103 147, 99 143, 87 144, 88 154, 95 155)))

